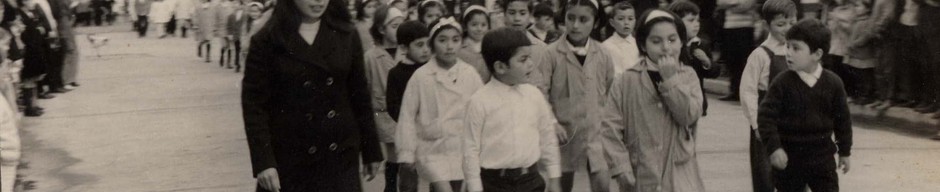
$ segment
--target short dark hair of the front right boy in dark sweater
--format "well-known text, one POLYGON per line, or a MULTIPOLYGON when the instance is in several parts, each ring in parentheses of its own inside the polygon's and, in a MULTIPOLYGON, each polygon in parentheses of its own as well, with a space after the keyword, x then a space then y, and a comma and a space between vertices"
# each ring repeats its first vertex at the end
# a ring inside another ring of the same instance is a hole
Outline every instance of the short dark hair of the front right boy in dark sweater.
POLYGON ((822 49, 823 53, 829 53, 830 36, 829 28, 814 18, 803 19, 787 31, 788 41, 802 41, 809 46, 810 52, 822 49))

